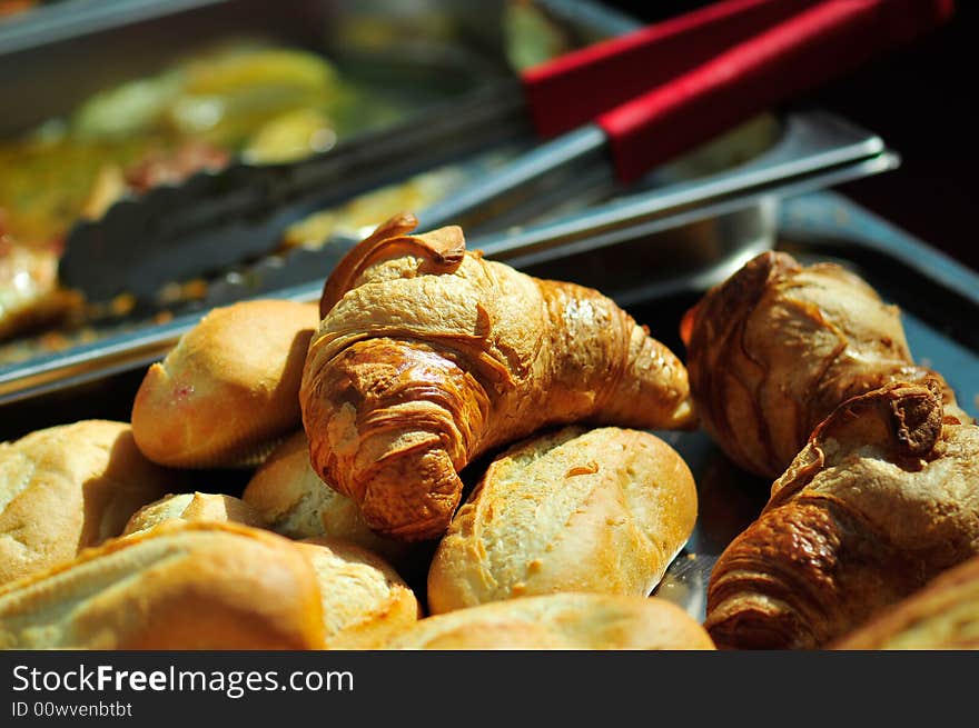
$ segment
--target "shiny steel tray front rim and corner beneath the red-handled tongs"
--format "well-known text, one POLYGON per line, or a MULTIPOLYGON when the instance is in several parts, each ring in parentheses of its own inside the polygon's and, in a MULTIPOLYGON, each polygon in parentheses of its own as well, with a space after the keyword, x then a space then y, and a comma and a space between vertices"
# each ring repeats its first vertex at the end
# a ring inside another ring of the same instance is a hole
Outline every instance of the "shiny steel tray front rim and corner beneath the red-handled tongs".
MULTIPOLYGON (((878 137, 818 110, 794 110, 777 122, 760 118, 720 141, 726 144, 715 142, 713 150, 665 166, 629 193, 615 196, 610 180, 596 180, 553 210, 537 210, 530 221, 471 237, 469 246, 534 273, 543 266, 540 275, 561 278, 576 270, 610 270, 609 259, 594 260, 597 251, 631 241, 627 255, 613 259, 621 261, 619 275, 596 288, 614 285, 624 296, 623 287, 631 287, 633 297, 642 297, 686 286, 691 277, 708 285, 773 245, 779 199, 898 164, 878 137), (778 131, 761 152, 759 129, 778 131), (716 163, 752 147, 748 161, 726 169, 716 163), (631 259, 642 266, 630 266, 631 259)), ((216 306, 257 297, 315 300, 349 245, 353 240, 293 251, 287 253, 290 265, 271 256, 212 281, 206 298, 168 322, 142 312, 97 330, 93 342, 0 365, 0 406, 146 366, 216 306)))

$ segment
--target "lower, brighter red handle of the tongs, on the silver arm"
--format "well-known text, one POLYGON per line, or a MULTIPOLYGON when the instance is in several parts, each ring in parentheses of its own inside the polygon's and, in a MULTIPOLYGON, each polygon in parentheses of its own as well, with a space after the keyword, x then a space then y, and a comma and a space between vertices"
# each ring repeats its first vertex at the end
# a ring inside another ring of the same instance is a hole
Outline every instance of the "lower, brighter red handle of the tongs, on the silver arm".
MULTIPOLYGON (((596 119, 623 181, 949 18, 952 0, 825 0, 596 119)), ((646 87, 649 88, 649 87, 646 87)))

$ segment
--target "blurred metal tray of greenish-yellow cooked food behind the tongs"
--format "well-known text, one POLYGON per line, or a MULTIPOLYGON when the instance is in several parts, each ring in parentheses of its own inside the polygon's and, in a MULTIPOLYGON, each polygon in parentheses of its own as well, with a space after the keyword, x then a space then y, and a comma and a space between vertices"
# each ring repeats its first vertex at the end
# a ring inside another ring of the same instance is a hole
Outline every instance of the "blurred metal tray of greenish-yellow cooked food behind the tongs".
MULTIPOLYGON (((233 101, 240 101, 239 106, 245 107, 241 114, 250 123, 256 116, 264 119, 265 111, 256 113, 256 104, 274 109, 279 108, 276 103, 281 104, 278 91, 267 88, 268 83, 261 86, 263 78, 276 80, 283 73, 288 78, 293 74, 303 91, 309 84, 316 86, 313 81, 323 76, 332 78, 330 69, 335 69, 339 100, 337 109, 330 107, 330 114, 336 111, 344 120, 346 131, 338 130, 336 141, 337 147, 344 147, 358 140, 370 143, 385 133, 396 134, 405 124, 431 126, 428 114, 433 109, 444 109, 445 103, 456 109, 454 101, 479 101, 482 92, 494 84, 512 83, 517 63, 560 54, 635 24, 590 0, 552 0, 533 6, 505 0, 423 0, 407 4, 396 0, 63 0, 11 20, 0 27, 0 87, 18 100, 0 119, 0 256, 6 256, 12 241, 20 262, 0 261, 9 263, 0 265, 0 336, 6 336, 8 321, 16 327, 20 326, 18 317, 32 317, 32 311, 23 315, 17 310, 24 307, 23 301, 29 307, 31 300, 47 303, 51 299, 53 306, 49 308, 68 308, 71 317, 63 326, 42 327, 38 336, 4 339, 0 342, 0 368, 10 375, 11 366, 32 366, 47 353, 76 357, 79 345, 122 331, 156 336, 162 332, 154 325, 180 313, 202 313, 214 305, 214 300, 199 296, 200 290, 207 290, 196 285, 199 281, 175 281, 180 290, 175 296, 165 291, 152 310, 145 306, 131 310, 125 301, 119 306, 112 301, 111 307, 102 306, 91 313, 95 307, 81 311, 77 305, 66 307, 69 297, 60 296, 58 289, 44 300, 34 292, 38 289, 44 293, 50 287, 49 278, 53 276, 48 272, 49 263, 60 255, 55 251, 59 241, 63 245, 71 220, 78 220, 79 208, 89 215, 88 203, 106 197, 111 206, 111 195, 93 193, 102 178, 111 181, 125 176, 127 170, 120 167, 122 160, 126 164, 131 161, 130 147, 146 146, 146 137, 160 136, 156 127, 151 133, 132 129, 142 129, 139 124, 145 110, 157 97, 170 98, 166 94, 175 76, 192 87, 192 91, 181 94, 195 99, 195 113, 207 110, 217 87, 221 89, 218 97, 227 91, 233 101), (527 16, 531 7, 536 14, 527 16), (527 32, 527 22, 537 23, 535 32, 527 32), (225 59, 222 49, 234 50, 240 44, 284 49, 287 58, 274 63, 278 69, 275 72, 265 62, 209 70, 216 56, 225 59), (194 66, 194 73, 187 71, 188 63, 194 66), (184 80, 186 76, 191 76, 190 81, 184 80), (248 86, 255 77, 259 87, 256 91, 240 99, 234 97, 236 89, 248 86), (131 118, 131 123, 120 122, 120 117, 131 118), (131 137, 135 141, 130 143, 131 137), (105 153, 106 146, 115 156, 105 153), (103 176, 106 169, 117 173, 103 176), (186 286, 188 282, 190 286, 186 286)), ((327 91, 334 88, 330 83, 326 84, 327 91)), ((168 133, 176 123, 170 116, 176 113, 167 112, 168 133)), ((231 126, 234 131, 236 127, 231 126)), ((212 137, 211 130, 205 141, 212 137)), ((253 163, 247 154, 233 153, 237 154, 235 166, 253 163)), ((312 157, 330 153, 328 144, 322 152, 310 151, 312 157)), ((512 153, 507 147, 498 152, 491 150, 490 156, 512 153)), ((398 188, 399 197, 378 190, 379 195, 370 200, 357 200, 352 209, 340 210, 339 217, 359 222, 378 205, 395 203, 393 198, 399 202, 398 209, 416 209, 419 199, 459 183, 458 170, 449 171, 453 173, 433 176, 424 183, 413 180, 411 189, 398 188)), ((197 172, 197 177, 206 177, 206 171, 197 172)), ((113 185, 105 187, 111 189, 113 185)), ((168 187, 166 182, 151 183, 156 190, 168 187)), ((323 217, 314 222, 322 227, 323 217)), ((289 235, 290 230, 283 231, 284 238, 289 235)), ((140 231, 132 230, 137 246, 139 237, 140 231)), ((57 259, 53 265, 57 267, 57 259)), ((310 276, 320 276, 320 271, 314 270, 310 276)), ((227 292, 234 280, 236 275, 229 275, 220 290, 227 296, 247 295, 237 289, 227 292)))

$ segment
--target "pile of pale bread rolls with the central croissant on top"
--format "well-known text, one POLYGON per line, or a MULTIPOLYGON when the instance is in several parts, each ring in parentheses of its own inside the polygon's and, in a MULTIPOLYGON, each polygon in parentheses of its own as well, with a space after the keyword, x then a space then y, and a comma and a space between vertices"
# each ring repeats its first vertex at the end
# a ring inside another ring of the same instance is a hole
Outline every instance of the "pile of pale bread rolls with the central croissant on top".
POLYGON ((680 359, 597 291, 414 226, 318 305, 212 310, 130 422, 2 446, 0 646, 713 648, 650 598, 696 520, 649 431, 695 425, 680 359), (244 490, 211 490, 228 468, 244 490))

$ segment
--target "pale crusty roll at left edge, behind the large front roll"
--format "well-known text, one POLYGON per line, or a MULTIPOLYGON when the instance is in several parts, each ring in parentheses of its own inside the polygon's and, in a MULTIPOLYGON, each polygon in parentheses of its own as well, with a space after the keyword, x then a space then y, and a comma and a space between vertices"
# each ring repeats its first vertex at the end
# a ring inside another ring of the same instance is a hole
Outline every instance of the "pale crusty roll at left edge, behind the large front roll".
POLYGON ((134 511, 179 486, 125 422, 81 420, 0 443, 0 584, 119 536, 134 511))

